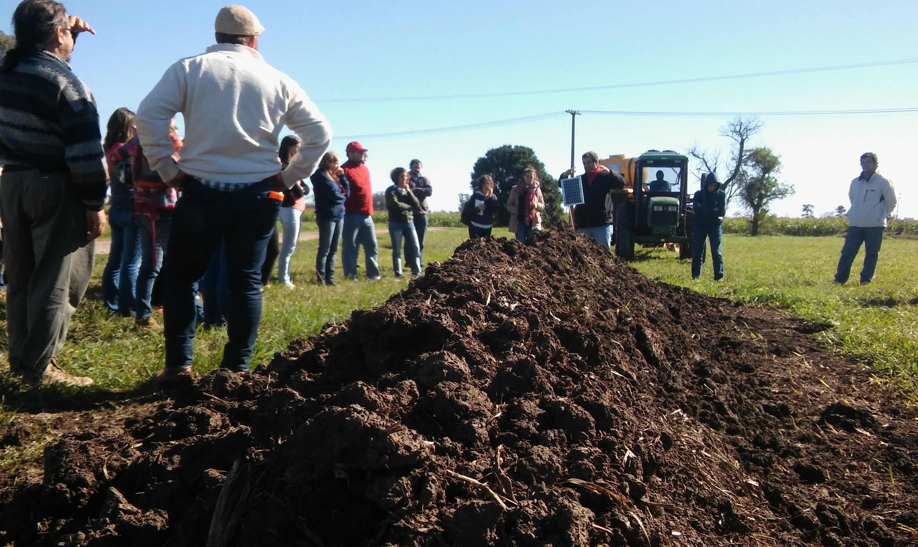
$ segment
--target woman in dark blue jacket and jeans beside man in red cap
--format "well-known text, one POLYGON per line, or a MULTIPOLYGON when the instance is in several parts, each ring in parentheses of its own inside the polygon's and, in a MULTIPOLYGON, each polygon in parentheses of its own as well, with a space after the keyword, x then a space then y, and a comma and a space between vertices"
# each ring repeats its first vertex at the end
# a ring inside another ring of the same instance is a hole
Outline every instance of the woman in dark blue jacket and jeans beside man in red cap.
POLYGON ((321 285, 335 285, 335 253, 344 226, 344 200, 351 195, 351 184, 340 162, 338 154, 325 152, 319 170, 309 177, 316 197, 316 224, 319 225, 316 281, 321 285))

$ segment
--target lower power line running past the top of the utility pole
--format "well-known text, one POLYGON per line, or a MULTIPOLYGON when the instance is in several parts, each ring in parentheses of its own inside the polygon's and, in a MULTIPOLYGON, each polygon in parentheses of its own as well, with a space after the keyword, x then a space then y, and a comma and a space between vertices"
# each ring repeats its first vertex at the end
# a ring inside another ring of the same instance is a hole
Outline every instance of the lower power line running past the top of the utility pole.
MULTIPOLYGON (((736 117, 736 116, 845 116, 845 115, 862 115, 862 114, 895 114, 918 112, 918 107, 914 108, 873 108, 860 110, 784 110, 774 112, 646 112, 637 110, 580 110, 581 114, 596 114, 599 116, 637 116, 637 117, 736 117)), ((409 137, 412 135, 432 135, 436 133, 448 133, 451 131, 463 131, 470 129, 497 128, 500 126, 509 126, 514 124, 529 123, 540 121, 552 117, 561 117, 568 114, 567 112, 546 112, 527 117, 511 117, 509 119, 498 119, 496 121, 487 121, 477 124, 468 124, 463 126, 451 126, 446 128, 414 129, 409 131, 397 131, 395 133, 371 133, 366 135, 345 135, 335 136, 339 140, 363 140, 363 139, 386 139, 391 137, 409 137)))

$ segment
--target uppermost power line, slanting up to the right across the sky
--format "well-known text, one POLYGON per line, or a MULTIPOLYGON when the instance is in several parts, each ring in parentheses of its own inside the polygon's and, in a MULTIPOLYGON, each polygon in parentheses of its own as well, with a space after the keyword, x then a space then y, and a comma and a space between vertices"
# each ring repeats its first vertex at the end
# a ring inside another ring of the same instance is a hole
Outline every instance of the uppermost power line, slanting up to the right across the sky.
POLYGON ((878 66, 891 66, 897 64, 912 64, 918 62, 918 58, 896 59, 892 61, 872 61, 858 62, 855 64, 835 64, 830 66, 817 66, 811 68, 788 69, 783 71, 770 71, 765 73, 742 73, 721 76, 703 76, 699 78, 683 78, 680 80, 659 80, 656 82, 642 82, 635 84, 611 84, 597 85, 593 87, 565 87, 561 89, 540 89, 532 91, 509 91, 502 93, 481 93, 467 95, 427 95, 427 96, 402 96, 402 97, 363 97, 350 99, 314 99, 316 103, 370 103, 370 102, 394 102, 394 101, 434 101, 444 99, 479 99, 489 97, 511 97, 521 95, 550 95, 558 93, 572 93, 580 91, 602 91, 608 89, 623 89, 627 87, 650 87, 654 85, 673 85, 673 84, 697 84, 701 82, 719 82, 722 80, 741 80, 744 78, 762 78, 766 76, 784 76, 789 74, 803 73, 826 73, 831 71, 845 71, 861 68, 872 68, 878 66))

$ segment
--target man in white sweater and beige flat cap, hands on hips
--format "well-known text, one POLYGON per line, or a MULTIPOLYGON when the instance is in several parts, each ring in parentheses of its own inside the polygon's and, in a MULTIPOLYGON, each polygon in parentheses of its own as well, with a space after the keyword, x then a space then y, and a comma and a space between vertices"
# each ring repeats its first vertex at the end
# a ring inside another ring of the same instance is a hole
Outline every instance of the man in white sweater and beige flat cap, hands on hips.
POLYGON ((165 369, 160 380, 191 371, 194 284, 226 242, 230 311, 222 367, 247 372, 262 318, 261 265, 283 191, 316 171, 328 149, 328 120, 289 76, 258 53, 264 30, 243 6, 222 8, 217 44, 172 65, 140 103, 137 134, 163 181, 182 191, 163 261, 165 369), (181 159, 169 120, 185 118, 181 159), (289 166, 277 157, 282 128, 301 143, 289 166))

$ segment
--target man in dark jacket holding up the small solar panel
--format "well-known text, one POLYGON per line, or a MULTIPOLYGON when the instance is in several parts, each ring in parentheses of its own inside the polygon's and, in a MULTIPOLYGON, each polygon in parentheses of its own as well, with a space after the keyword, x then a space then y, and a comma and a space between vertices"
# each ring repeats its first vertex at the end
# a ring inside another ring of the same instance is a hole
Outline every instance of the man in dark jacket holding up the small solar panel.
MULTIPOLYGON (((610 171, 599 163, 599 155, 589 151, 583 155, 583 169, 579 175, 584 203, 574 207, 574 227, 583 235, 599 241, 611 251, 612 193, 625 187, 621 174, 610 171)), ((560 179, 574 176, 575 168, 561 173, 560 179)), ((560 184, 560 182, 558 183, 560 184)))

